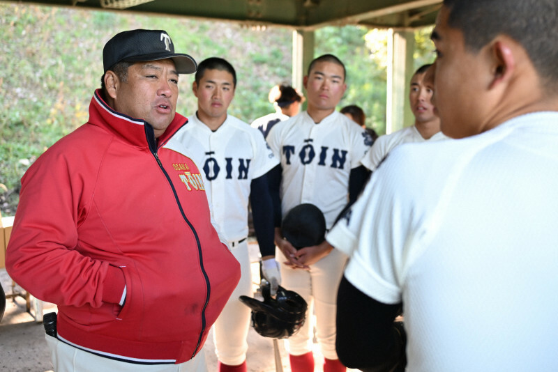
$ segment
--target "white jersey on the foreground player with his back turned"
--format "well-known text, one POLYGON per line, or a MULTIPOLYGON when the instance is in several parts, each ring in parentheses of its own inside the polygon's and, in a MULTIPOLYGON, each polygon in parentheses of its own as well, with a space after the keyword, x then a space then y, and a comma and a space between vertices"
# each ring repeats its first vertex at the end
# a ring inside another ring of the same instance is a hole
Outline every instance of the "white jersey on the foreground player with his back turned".
POLYGON ((405 308, 407 371, 557 371, 558 113, 395 148, 329 233, 405 308))

